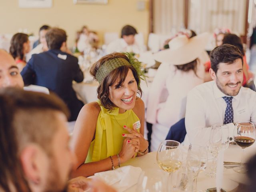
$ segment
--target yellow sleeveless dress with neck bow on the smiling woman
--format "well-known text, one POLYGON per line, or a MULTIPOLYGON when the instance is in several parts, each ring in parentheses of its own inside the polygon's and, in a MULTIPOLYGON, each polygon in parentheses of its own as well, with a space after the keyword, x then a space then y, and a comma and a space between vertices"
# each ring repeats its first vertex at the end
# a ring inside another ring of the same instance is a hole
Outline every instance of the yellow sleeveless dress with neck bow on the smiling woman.
MULTIPOLYGON (((118 154, 124 140, 122 134, 128 133, 123 130, 123 126, 126 125, 132 129, 132 125, 140 121, 133 110, 126 110, 119 114, 119 108, 108 111, 100 101, 97 102, 101 110, 96 123, 95 139, 90 144, 85 163, 99 161, 118 154)), ((139 132, 140 129, 138 128, 137 131, 139 132)))

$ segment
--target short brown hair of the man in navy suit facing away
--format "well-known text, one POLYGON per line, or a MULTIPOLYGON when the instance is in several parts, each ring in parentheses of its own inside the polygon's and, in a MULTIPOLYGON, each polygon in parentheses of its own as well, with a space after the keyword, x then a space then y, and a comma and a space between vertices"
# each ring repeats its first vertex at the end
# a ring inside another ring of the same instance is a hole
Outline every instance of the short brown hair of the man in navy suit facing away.
POLYGON ((49 49, 60 49, 62 43, 67 41, 66 32, 60 28, 51 28, 45 38, 49 49))

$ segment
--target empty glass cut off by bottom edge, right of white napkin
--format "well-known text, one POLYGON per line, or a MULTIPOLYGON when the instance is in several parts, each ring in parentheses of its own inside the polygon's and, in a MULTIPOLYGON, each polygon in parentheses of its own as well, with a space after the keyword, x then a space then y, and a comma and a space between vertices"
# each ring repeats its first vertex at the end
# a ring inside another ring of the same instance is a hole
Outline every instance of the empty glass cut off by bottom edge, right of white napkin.
POLYGON ((140 174, 136 191, 137 192, 166 192, 167 178, 164 172, 153 168, 145 169, 140 174))

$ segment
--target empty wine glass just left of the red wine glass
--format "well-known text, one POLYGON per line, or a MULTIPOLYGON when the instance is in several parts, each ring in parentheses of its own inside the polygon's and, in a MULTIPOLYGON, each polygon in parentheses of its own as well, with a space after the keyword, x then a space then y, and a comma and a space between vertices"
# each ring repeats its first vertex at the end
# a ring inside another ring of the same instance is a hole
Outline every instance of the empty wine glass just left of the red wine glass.
POLYGON ((214 124, 210 132, 209 149, 212 153, 212 168, 207 176, 215 178, 216 176, 216 159, 220 150, 228 148, 229 144, 229 129, 224 124, 214 124))

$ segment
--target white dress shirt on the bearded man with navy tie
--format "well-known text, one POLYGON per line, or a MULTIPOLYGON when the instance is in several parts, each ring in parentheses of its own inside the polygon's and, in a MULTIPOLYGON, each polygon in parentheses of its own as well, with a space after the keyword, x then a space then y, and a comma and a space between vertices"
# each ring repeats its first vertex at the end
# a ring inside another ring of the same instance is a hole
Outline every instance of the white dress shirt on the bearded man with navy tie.
MULTIPOLYGON (((210 126, 223 124, 226 111, 226 102, 215 81, 206 82, 193 88, 187 96, 185 125, 187 135, 184 144, 192 142, 198 131, 204 132, 202 142, 208 142, 210 126)), ((239 93, 233 96, 232 107, 234 123, 251 121, 256 123, 256 92, 241 87, 239 93)), ((230 129, 230 135, 234 130, 230 129)))

